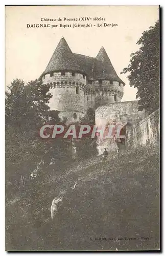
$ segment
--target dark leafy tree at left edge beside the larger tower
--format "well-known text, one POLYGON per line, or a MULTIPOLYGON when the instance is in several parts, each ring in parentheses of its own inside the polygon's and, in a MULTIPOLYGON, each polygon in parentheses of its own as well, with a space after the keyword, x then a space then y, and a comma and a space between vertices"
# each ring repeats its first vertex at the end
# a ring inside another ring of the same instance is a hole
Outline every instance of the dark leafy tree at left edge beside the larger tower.
POLYGON ((42 160, 43 146, 38 136, 39 127, 46 120, 52 97, 49 87, 41 86, 39 80, 27 84, 16 79, 6 92, 6 179, 19 184, 22 177, 28 179, 30 172, 42 160))

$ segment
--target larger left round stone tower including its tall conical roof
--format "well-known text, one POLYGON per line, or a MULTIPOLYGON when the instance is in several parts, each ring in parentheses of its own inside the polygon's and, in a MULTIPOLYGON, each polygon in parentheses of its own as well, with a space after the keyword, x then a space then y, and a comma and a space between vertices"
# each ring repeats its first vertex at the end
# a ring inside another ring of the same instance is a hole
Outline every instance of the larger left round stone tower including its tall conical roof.
POLYGON ((84 116, 84 90, 86 74, 62 37, 53 56, 42 73, 44 84, 50 84, 53 97, 51 110, 59 111, 62 120, 77 122, 84 116))

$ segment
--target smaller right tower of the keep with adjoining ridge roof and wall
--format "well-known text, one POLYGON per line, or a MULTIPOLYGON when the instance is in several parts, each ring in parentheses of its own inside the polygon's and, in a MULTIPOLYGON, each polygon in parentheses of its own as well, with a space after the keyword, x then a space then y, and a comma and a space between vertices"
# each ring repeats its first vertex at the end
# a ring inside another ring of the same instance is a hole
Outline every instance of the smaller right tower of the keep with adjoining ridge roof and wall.
POLYGON ((96 58, 81 55, 81 63, 84 63, 87 73, 85 110, 121 101, 125 83, 117 76, 103 47, 96 58))

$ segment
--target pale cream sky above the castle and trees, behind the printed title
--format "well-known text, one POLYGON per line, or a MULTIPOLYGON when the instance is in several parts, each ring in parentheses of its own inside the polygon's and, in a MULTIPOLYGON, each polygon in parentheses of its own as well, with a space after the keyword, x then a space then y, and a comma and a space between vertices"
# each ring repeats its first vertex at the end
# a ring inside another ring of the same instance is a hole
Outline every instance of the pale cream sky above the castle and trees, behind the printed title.
POLYGON ((6 6, 6 86, 15 78, 25 81, 38 78, 63 36, 74 53, 96 57, 103 46, 117 75, 126 83, 122 101, 135 100, 136 89, 129 86, 128 74, 120 73, 128 66, 131 53, 138 50, 137 40, 157 19, 159 6, 6 6), (81 17, 91 19, 63 20, 81 17), (95 17, 104 20, 94 21, 95 17), (41 18, 56 21, 41 22, 41 18), (117 26, 104 27, 104 23, 117 26), (27 28, 27 24, 58 26, 27 28), (71 27, 60 28, 59 24, 71 27), (92 27, 73 28, 73 24, 92 27))

